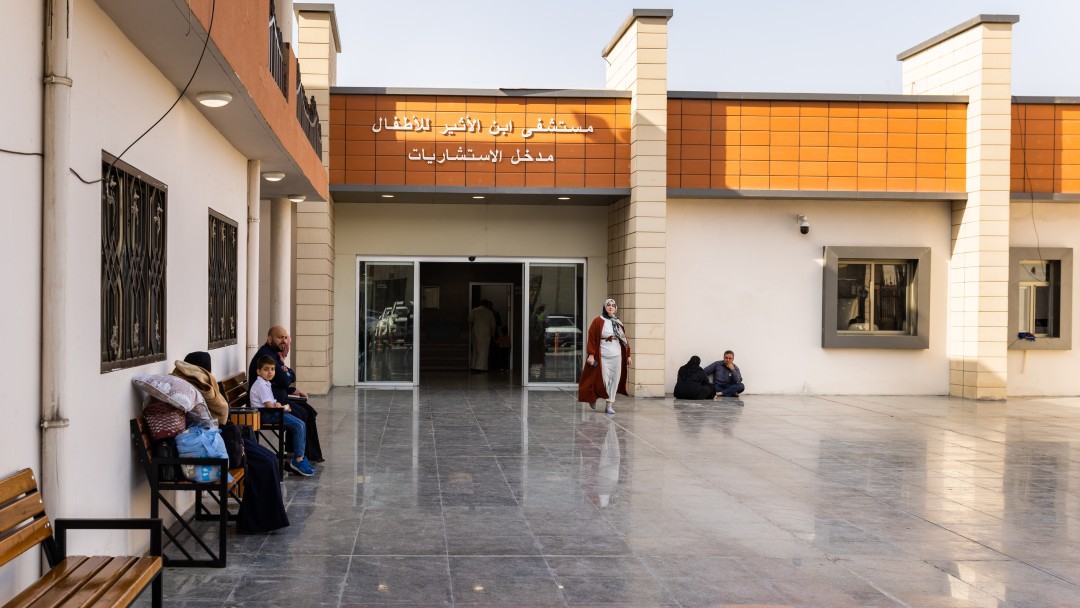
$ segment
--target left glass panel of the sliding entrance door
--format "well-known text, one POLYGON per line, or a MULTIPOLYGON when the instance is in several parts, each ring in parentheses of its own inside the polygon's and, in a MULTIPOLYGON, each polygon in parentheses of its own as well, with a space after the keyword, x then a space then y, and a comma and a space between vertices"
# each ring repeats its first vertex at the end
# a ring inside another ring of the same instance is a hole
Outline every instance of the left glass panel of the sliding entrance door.
POLYGON ((416 262, 360 261, 359 382, 416 381, 416 262))

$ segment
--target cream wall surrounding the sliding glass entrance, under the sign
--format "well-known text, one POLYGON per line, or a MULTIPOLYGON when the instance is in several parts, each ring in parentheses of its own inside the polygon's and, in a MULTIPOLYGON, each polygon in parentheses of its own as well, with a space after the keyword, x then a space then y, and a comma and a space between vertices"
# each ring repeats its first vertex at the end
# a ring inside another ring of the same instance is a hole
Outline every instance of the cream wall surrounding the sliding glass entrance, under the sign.
POLYGON ((335 206, 334 384, 356 377, 356 256, 588 258, 586 312, 607 289, 607 207, 335 206))

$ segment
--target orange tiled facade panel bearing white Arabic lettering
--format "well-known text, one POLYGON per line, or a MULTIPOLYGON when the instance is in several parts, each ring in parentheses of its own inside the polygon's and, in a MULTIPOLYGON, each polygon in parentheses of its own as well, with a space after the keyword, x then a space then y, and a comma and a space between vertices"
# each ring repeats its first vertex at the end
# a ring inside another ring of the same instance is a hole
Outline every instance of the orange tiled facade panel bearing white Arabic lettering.
POLYGON ((630 188, 630 99, 330 96, 330 183, 630 188))

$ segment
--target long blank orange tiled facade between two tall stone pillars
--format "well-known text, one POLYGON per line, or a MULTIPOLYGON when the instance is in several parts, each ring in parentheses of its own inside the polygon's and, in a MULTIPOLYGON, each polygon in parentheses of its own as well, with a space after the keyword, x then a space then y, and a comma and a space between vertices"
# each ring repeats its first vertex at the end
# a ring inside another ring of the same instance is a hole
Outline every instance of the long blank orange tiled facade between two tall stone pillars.
POLYGON ((667 187, 964 192, 963 104, 669 99, 667 187))

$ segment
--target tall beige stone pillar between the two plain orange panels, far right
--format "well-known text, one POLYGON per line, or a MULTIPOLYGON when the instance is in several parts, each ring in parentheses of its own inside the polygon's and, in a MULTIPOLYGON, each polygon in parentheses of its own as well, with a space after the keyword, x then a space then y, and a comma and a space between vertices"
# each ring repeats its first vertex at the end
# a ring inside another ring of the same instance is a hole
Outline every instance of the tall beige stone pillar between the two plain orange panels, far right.
POLYGON ((1015 15, 978 15, 901 53, 904 93, 967 95, 968 200, 953 203, 949 394, 1003 400, 1015 15))

